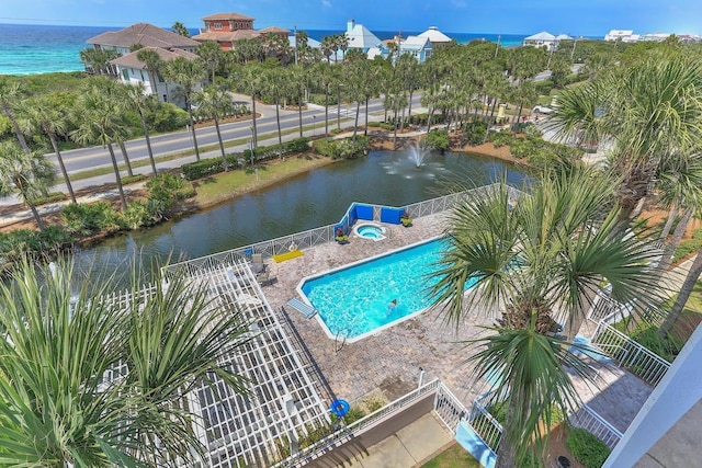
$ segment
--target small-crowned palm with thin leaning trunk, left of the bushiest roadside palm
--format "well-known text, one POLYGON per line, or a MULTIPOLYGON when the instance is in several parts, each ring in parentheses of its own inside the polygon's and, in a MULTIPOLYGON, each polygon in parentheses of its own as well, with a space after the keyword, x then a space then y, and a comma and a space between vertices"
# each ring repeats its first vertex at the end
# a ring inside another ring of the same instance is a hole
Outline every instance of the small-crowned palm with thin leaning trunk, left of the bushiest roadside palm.
POLYGON ((70 199, 72 203, 76 203, 73 186, 70 183, 70 178, 68 176, 68 171, 66 170, 66 164, 61 157, 61 151, 58 148, 58 136, 66 135, 68 132, 68 113, 60 106, 56 105, 56 103, 52 101, 50 95, 37 96, 27 100, 24 103, 22 111, 25 115, 25 118, 23 119, 23 127, 30 134, 37 132, 43 133, 52 142, 52 148, 54 148, 54 152, 56 153, 56 160, 58 161, 58 167, 64 175, 64 182, 66 183, 66 189, 68 189, 70 199))

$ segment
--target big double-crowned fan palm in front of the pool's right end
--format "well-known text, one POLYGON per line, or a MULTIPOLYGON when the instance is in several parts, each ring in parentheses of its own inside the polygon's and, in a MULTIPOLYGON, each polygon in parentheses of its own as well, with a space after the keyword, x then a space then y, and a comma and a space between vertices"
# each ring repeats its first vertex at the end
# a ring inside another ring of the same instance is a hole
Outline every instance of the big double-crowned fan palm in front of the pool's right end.
POLYGON ((467 358, 476 378, 500 376, 492 395, 506 398, 507 416, 498 467, 521 466, 530 450, 540 454, 553 406, 566 414, 577 401, 564 365, 593 377, 567 352, 571 343, 553 335, 556 322, 574 336, 602 281, 616 300, 656 304, 649 266, 655 249, 627 236, 630 225, 612 204, 612 186, 574 168, 545 174, 531 195, 517 199, 502 182, 458 202, 449 217, 434 304, 456 326, 471 313, 501 310, 498 326, 468 342, 479 351, 467 358))

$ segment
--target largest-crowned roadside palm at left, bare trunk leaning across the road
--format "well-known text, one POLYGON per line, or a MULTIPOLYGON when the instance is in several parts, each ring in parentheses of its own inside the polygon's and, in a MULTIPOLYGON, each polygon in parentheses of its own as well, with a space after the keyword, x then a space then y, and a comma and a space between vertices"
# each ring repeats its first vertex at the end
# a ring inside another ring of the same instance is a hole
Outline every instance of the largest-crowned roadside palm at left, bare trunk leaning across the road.
POLYGON ((124 126, 122 103, 105 96, 98 89, 89 89, 80 95, 75 110, 75 121, 78 128, 70 133, 70 137, 81 145, 102 145, 110 151, 112 169, 120 192, 122 208, 126 209, 127 199, 124 196, 120 167, 114 155, 113 142, 124 141, 127 129, 124 126))

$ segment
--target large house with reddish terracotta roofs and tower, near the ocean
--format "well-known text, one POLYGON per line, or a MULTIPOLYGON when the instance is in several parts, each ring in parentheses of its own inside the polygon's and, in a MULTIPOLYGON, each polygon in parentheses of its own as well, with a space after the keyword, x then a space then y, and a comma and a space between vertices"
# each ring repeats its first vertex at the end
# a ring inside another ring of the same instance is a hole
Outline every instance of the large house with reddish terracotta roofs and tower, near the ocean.
POLYGON ((214 41, 219 44, 223 50, 231 50, 234 43, 241 39, 261 38, 268 34, 280 36, 287 41, 288 30, 270 26, 263 30, 254 30, 254 18, 245 16, 239 13, 217 13, 202 19, 205 27, 200 30, 200 34, 193 36, 194 41, 214 41))

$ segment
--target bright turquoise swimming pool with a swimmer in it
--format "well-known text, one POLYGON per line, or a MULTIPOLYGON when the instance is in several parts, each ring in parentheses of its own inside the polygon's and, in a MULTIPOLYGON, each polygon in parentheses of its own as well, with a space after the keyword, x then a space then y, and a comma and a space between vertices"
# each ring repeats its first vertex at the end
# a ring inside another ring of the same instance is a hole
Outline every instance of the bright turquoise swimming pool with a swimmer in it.
POLYGON ((359 341, 407 320, 431 305, 432 273, 445 243, 441 239, 303 278, 297 286, 317 309, 329 338, 359 341), (393 305, 393 299, 397 305, 393 305))

